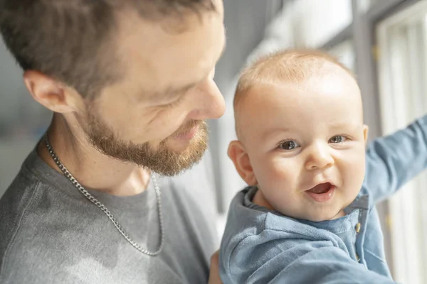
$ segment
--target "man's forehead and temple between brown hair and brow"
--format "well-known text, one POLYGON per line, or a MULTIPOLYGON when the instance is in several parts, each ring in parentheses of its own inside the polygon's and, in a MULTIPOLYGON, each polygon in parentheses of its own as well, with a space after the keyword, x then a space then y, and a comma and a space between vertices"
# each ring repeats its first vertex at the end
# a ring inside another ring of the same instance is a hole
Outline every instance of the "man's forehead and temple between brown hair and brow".
POLYGON ((188 21, 192 26, 181 33, 130 16, 119 32, 120 43, 116 41, 129 84, 158 97, 181 92, 208 76, 223 52, 225 35, 222 15, 204 15, 202 21, 188 21))

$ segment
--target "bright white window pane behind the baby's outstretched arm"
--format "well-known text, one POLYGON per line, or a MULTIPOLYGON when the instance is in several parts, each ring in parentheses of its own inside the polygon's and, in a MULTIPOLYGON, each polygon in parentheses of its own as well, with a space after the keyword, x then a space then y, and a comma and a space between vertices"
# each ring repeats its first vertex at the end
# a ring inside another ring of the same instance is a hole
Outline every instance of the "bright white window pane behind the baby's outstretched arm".
MULTIPOLYGON (((386 18, 376 28, 384 134, 427 114, 427 1, 386 18)), ((427 173, 389 201, 394 278, 427 283, 427 173)))

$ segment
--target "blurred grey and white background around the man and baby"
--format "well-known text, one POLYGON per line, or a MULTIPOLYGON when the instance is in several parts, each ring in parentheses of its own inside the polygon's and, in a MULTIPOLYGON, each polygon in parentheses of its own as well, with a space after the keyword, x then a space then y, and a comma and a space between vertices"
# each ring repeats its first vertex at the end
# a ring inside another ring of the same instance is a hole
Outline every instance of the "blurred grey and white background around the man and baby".
MULTIPOLYGON (((427 0, 224 0, 227 48, 216 68, 226 114, 210 121, 221 235, 227 207, 244 187, 226 155, 235 138, 238 72, 278 48, 327 50, 357 75, 370 139, 427 113, 427 0)), ((0 196, 46 131, 51 113, 33 102, 0 43, 0 196)), ((427 283, 427 174, 378 205, 396 281, 427 283)))

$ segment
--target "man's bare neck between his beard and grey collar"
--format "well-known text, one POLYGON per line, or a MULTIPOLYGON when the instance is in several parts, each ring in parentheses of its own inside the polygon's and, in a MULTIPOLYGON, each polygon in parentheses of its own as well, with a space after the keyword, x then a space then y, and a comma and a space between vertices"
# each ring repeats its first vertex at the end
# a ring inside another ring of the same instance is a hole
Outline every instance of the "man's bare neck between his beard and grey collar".
MULTIPOLYGON (((147 188, 150 175, 146 170, 100 153, 86 141, 83 131, 70 129, 57 114, 48 138, 61 163, 83 187, 120 196, 137 195, 147 188)), ((62 173, 45 141, 38 145, 37 152, 51 168, 62 173)))

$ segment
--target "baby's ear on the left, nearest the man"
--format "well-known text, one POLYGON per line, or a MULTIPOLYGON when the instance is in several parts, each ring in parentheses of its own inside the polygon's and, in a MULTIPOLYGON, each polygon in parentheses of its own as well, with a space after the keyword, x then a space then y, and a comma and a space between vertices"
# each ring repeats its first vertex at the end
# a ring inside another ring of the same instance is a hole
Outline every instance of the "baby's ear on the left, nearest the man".
POLYGON ((248 185, 256 185, 258 182, 256 181, 255 173, 253 173, 251 160, 249 160, 249 155, 246 153, 241 141, 231 141, 230 145, 228 145, 227 153, 241 178, 248 185))

